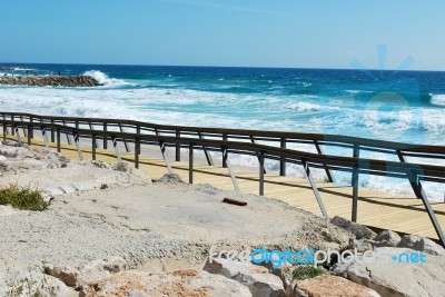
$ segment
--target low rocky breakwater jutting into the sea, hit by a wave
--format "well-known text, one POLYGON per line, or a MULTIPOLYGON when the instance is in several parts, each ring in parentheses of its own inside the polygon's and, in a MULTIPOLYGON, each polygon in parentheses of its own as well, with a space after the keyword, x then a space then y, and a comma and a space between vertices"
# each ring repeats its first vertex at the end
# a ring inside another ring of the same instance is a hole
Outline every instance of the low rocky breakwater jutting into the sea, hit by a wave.
POLYGON ((33 87, 99 87, 95 78, 89 76, 3 76, 0 85, 33 87))

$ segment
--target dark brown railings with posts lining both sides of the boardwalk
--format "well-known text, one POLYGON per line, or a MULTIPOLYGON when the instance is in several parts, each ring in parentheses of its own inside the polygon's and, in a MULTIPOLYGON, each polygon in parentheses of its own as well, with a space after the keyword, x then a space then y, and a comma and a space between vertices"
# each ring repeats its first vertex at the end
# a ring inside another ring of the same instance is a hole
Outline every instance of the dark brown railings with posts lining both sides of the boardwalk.
POLYGON ((130 152, 131 148, 134 148, 134 161, 137 168, 139 167, 139 155, 142 145, 159 146, 169 172, 171 172, 171 165, 166 149, 169 147, 175 148, 175 159, 177 161, 181 159, 181 149, 187 149, 190 184, 194 181, 194 150, 202 150, 209 166, 215 166, 210 152, 221 152, 222 167, 228 168, 236 190, 239 190, 239 187, 228 156, 233 154, 254 156, 258 158, 259 162, 259 195, 264 195, 265 159, 277 160, 281 176, 286 175, 287 164, 300 165, 305 169, 315 198, 325 217, 328 217, 328 214, 313 178, 312 169, 319 168, 325 170, 329 181, 334 181, 332 171, 347 171, 352 174, 353 221, 357 221, 359 175, 406 179, 409 181, 415 196, 422 199, 437 236, 445 246, 443 230, 421 182, 445 182, 445 167, 406 161, 406 157, 443 160, 445 159, 445 147, 416 146, 336 135, 182 127, 134 120, 37 116, 19 112, 0 112, 0 121, 3 128, 3 139, 6 139, 7 135, 14 135, 18 141, 22 141, 22 137, 26 137, 27 142, 31 143, 34 131, 39 130, 48 148, 49 142, 56 142, 57 149, 60 151, 61 139, 65 137, 69 145, 77 146, 80 159, 83 158, 80 139, 91 140, 93 159, 96 159, 96 149, 100 146, 103 149, 108 149, 108 143, 111 141, 117 158, 120 160, 118 142, 121 142, 127 152, 130 152), (259 143, 260 141, 267 143, 259 143), (314 146, 316 152, 287 148, 290 143, 314 146), (353 156, 326 155, 326 147, 349 148, 353 151, 353 156), (398 161, 359 158, 360 151, 394 155, 398 161))

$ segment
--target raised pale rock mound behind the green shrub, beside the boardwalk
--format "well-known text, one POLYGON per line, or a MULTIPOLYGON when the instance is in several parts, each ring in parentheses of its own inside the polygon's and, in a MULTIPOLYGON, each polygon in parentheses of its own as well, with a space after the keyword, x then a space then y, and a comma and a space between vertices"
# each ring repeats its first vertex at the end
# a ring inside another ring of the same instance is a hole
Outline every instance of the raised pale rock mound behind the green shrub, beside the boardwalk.
POLYGON ((3 141, 0 147, 0 186, 18 184, 18 186, 36 186, 52 197, 77 191, 88 191, 107 187, 127 187, 147 185, 151 180, 131 164, 119 162, 111 166, 92 160, 70 161, 58 152, 29 148, 27 145, 3 141))

